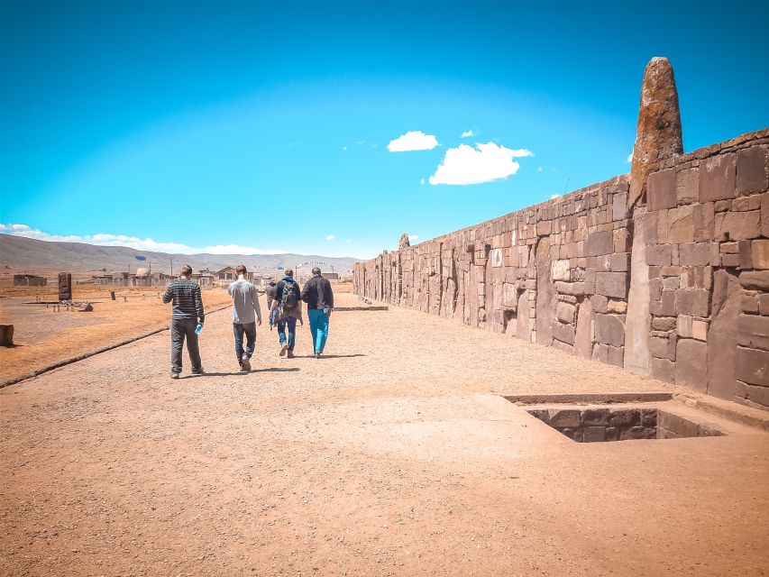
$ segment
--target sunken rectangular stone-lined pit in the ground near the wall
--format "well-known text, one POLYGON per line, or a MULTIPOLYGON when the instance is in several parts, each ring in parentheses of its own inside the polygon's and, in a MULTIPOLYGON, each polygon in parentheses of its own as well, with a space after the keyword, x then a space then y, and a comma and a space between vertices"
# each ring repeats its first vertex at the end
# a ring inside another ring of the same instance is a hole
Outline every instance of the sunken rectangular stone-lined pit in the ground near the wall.
POLYGON ((711 423, 655 407, 562 406, 527 412, 577 443, 726 435, 711 423))

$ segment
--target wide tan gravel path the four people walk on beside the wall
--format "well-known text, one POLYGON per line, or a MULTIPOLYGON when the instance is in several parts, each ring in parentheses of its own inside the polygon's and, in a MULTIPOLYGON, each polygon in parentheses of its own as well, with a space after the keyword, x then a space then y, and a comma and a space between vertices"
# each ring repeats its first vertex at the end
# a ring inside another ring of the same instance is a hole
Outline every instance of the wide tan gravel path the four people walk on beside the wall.
POLYGON ((162 333, 0 389, 0 574, 769 572, 765 433, 575 444, 500 395, 665 385, 413 311, 331 333, 262 325, 243 374, 223 311, 206 376, 162 333))

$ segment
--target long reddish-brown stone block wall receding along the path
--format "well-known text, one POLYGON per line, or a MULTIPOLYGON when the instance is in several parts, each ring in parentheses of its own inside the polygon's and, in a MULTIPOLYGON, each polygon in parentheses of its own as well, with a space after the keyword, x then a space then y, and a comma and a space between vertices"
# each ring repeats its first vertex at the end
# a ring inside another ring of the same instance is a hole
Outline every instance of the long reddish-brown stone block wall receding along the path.
POLYGON ((357 263, 356 292, 769 408, 769 130, 357 263), (629 304, 629 310, 628 310, 629 304))

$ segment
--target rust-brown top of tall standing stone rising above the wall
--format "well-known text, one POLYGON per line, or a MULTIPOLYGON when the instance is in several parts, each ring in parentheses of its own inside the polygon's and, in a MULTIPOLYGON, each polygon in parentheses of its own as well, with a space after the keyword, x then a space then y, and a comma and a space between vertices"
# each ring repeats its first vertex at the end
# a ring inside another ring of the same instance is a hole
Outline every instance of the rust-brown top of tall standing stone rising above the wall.
POLYGON ((655 57, 646 65, 641 85, 629 206, 634 206, 644 194, 646 178, 657 162, 682 151, 681 114, 673 67, 667 59, 655 57))

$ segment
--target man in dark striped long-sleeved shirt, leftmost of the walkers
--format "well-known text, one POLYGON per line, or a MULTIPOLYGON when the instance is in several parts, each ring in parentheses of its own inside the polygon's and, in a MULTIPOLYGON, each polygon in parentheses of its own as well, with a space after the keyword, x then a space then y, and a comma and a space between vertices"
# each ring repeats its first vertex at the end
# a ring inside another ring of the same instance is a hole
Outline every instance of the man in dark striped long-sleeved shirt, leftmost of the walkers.
POLYGON ((197 324, 203 325, 206 313, 203 311, 203 298, 200 287, 192 282, 192 267, 185 264, 181 267, 181 278, 174 280, 163 295, 163 302, 173 301, 171 313, 171 379, 179 379, 181 372, 181 349, 187 338, 187 352, 192 364, 192 374, 202 375, 203 365, 200 362, 200 349, 197 347, 197 324))

